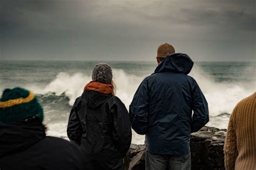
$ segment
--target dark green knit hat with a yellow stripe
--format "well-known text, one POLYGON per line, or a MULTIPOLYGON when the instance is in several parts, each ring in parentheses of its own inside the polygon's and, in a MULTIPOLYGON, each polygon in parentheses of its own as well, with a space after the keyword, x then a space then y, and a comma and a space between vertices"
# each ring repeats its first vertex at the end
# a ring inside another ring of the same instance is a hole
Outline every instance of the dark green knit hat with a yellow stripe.
POLYGON ((31 91, 19 87, 4 90, 0 99, 0 124, 21 121, 32 116, 37 116, 43 122, 43 109, 31 91))

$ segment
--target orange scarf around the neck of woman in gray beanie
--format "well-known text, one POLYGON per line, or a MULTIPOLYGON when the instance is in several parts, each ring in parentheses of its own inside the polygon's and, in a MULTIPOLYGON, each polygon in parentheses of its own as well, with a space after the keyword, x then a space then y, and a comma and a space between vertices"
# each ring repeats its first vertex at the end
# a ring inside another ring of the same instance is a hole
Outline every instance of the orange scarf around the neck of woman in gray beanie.
POLYGON ((98 91, 99 93, 103 94, 112 94, 113 86, 112 84, 104 84, 96 81, 91 81, 84 87, 84 91, 86 90, 98 91))

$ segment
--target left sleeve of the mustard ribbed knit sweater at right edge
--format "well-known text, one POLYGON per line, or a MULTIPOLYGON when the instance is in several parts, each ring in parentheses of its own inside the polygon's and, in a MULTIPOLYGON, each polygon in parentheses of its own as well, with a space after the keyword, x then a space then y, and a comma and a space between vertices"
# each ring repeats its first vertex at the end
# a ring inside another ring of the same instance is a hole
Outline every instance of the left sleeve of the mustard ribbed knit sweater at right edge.
POLYGON ((237 136, 235 135, 233 123, 234 122, 233 122, 233 114, 232 114, 230 117, 230 122, 228 123, 226 140, 224 145, 225 168, 227 170, 235 168, 235 160, 238 157, 237 136))

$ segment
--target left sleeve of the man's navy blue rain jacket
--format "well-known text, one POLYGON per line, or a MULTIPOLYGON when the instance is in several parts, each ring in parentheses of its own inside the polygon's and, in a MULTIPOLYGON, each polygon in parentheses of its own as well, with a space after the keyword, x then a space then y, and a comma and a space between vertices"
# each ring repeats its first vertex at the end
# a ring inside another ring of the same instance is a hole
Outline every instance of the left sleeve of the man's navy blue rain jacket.
POLYGON ((130 104, 130 120, 132 129, 138 134, 146 134, 148 130, 148 105, 149 94, 147 88, 147 79, 144 79, 134 94, 130 104))

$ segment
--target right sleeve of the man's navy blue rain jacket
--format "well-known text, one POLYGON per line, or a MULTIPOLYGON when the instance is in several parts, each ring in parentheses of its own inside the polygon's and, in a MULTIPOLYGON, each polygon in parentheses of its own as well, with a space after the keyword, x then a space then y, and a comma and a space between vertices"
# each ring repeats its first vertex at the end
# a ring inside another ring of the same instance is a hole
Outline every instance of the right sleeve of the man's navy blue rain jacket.
POLYGON ((193 79, 192 87, 192 124, 191 133, 197 132, 209 121, 208 104, 205 96, 199 88, 196 80, 193 79))

